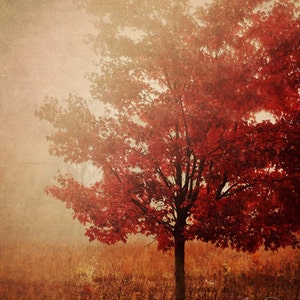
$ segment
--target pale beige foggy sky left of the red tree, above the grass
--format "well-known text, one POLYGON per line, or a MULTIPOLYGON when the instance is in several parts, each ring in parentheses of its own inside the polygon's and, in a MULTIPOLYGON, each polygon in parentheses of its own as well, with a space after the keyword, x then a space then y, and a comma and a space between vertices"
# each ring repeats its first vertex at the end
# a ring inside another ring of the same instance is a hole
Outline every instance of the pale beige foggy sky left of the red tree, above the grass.
POLYGON ((45 186, 62 162, 48 153, 51 127, 34 116, 46 96, 87 95, 92 25, 71 0, 0 0, 0 238, 86 240, 45 186))

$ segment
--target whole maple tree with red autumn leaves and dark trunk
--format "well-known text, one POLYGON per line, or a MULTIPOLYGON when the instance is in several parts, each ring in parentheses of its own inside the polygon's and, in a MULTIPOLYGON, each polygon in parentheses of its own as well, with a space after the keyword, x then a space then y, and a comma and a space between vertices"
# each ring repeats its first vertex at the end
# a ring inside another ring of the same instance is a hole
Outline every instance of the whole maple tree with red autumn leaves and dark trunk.
POLYGON ((185 298, 189 240, 256 251, 299 232, 299 20, 292 1, 88 0, 99 55, 91 100, 47 98, 50 152, 102 180, 47 192, 113 244, 154 236, 175 252, 185 298), (95 105, 95 103, 99 103, 95 105), (101 104, 101 106, 100 106, 101 104), (98 109, 101 107, 101 109, 98 109), (267 111, 272 120, 256 121, 267 111))

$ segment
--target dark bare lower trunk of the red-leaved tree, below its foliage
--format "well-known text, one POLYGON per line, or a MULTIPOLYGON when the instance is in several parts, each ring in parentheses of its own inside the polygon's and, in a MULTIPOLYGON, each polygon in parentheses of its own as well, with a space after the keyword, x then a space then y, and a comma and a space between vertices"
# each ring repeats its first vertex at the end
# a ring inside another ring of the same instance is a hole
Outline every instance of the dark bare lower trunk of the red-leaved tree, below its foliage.
POLYGON ((185 300, 184 239, 175 239, 175 299, 185 300))

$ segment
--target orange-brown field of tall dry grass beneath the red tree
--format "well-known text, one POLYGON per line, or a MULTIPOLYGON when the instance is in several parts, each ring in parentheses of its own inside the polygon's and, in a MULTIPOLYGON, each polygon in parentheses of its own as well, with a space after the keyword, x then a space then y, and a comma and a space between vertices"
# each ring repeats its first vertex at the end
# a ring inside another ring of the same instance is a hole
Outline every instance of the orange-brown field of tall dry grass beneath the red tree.
MULTIPOLYGON (((300 253, 249 255, 188 243, 187 299, 300 299, 300 253), (267 298, 270 297, 270 298, 267 298), (274 297, 274 298, 271 298, 274 297)), ((154 243, 0 246, 0 299, 173 299, 173 254, 154 243)))

